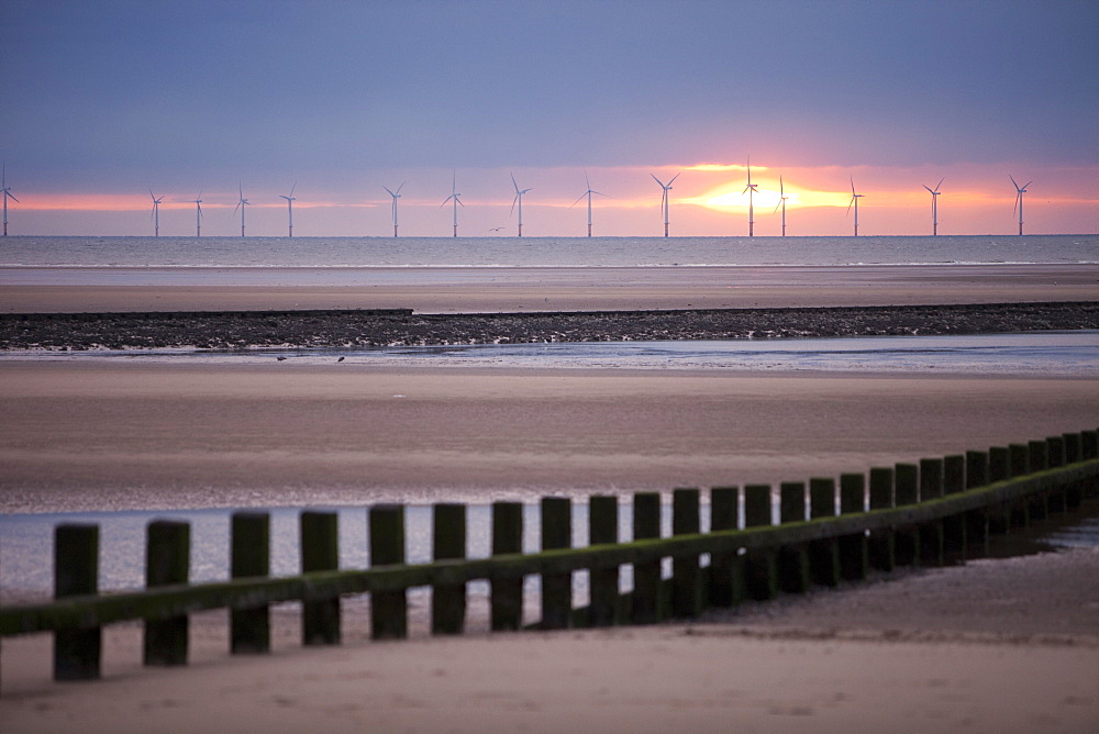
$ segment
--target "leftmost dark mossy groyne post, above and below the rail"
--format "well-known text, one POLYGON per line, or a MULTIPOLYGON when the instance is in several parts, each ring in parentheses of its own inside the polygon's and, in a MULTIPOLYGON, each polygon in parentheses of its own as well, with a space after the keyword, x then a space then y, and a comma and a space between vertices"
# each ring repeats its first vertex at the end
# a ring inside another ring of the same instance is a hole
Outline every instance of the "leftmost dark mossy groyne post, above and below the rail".
MULTIPOLYGON (((60 524, 54 530, 54 597, 99 593, 99 525, 60 524)), ((99 678, 102 629, 54 633, 54 680, 99 678)))

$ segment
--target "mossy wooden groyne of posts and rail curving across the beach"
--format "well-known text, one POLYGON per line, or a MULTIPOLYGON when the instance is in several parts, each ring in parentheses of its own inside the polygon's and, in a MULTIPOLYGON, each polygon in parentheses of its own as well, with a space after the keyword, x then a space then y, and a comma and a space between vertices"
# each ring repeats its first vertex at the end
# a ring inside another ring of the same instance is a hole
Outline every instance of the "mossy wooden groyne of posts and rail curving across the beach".
POLYGON ((54 677, 97 678, 103 625, 144 620, 146 665, 184 665, 188 615, 230 610, 233 654, 270 648, 269 605, 302 604, 302 644, 338 644, 341 597, 370 594, 371 635, 408 635, 408 592, 431 589, 431 631, 460 634, 466 622, 466 582, 490 587, 493 631, 523 627, 523 580, 542 583, 539 629, 650 624, 689 619, 707 607, 767 600, 813 586, 865 578, 869 569, 928 565, 980 557, 990 535, 1025 527, 1076 509, 1099 493, 1099 431, 1025 444, 972 451, 918 463, 876 467, 866 474, 808 482, 715 487, 709 502, 698 489, 671 493, 671 535, 660 536, 662 497, 632 498, 632 540, 619 537, 621 502, 596 496, 588 504, 590 544, 571 547, 570 500, 541 501, 541 550, 523 554, 523 505, 496 502, 491 555, 466 558, 466 507, 432 508, 433 560, 406 563, 404 507, 368 509, 371 567, 338 569, 336 513, 300 515, 301 574, 269 577, 270 518, 237 512, 231 524, 230 579, 188 583, 190 526, 149 523, 145 589, 101 593, 99 527, 55 529, 55 598, 0 608, 0 635, 54 633, 54 677), (700 532, 709 510, 709 532, 700 532), (709 557, 709 565, 700 561, 709 557), (662 561, 673 572, 662 578, 662 561), (619 572, 633 570, 622 592, 619 572), (571 575, 589 574, 587 607, 575 608, 571 575))

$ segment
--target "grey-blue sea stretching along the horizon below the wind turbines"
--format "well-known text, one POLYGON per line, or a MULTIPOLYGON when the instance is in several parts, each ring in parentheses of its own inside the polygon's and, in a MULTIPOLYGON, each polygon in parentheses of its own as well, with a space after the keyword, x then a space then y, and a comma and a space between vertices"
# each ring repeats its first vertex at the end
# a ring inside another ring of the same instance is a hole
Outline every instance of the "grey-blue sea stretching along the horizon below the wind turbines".
POLYGON ((1099 235, 907 237, 34 237, 0 267, 630 267, 1099 263, 1099 235))

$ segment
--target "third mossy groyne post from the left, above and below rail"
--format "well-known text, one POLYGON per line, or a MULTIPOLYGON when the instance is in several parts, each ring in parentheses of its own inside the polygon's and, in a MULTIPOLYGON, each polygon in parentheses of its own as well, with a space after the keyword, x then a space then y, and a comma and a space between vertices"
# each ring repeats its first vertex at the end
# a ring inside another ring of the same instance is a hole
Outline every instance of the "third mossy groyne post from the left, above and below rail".
MULTIPOLYGON (((234 579, 270 574, 271 519, 266 512, 234 512, 230 576, 234 579)), ((271 646, 267 604, 230 610, 229 648, 234 655, 268 653, 271 646)))

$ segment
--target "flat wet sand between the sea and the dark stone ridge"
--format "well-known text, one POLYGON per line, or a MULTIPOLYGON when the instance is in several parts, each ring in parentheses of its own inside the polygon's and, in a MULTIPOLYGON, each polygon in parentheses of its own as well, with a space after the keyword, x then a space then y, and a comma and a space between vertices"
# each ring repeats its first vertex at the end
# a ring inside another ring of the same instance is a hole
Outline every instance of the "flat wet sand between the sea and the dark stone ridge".
POLYGON ((271 309, 498 313, 1096 300, 1099 265, 0 268, 0 310, 13 313, 271 309))

